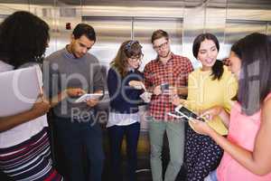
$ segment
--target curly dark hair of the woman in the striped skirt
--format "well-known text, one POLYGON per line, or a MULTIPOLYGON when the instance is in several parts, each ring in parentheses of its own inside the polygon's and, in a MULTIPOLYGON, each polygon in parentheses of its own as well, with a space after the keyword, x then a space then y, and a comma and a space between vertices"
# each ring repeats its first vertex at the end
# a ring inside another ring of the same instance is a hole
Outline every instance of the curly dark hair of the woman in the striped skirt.
POLYGON ((41 62, 50 39, 49 25, 38 16, 18 11, 0 24, 0 60, 17 68, 41 62))

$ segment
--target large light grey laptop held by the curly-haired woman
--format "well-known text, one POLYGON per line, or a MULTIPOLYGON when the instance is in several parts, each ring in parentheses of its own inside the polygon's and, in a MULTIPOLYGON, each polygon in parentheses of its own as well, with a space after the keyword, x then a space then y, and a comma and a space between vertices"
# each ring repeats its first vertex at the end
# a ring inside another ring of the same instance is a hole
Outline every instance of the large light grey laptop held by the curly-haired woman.
POLYGON ((11 116, 33 107, 42 91, 40 68, 5 71, 0 73, 0 117, 11 116))

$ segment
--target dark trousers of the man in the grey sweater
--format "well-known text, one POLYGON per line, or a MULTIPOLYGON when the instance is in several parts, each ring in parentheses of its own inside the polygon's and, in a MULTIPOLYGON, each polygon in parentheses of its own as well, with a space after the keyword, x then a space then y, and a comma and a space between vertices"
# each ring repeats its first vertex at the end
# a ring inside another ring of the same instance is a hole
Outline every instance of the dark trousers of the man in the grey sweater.
POLYGON ((67 177, 69 181, 84 181, 84 161, 89 161, 89 176, 87 180, 101 181, 104 162, 102 148, 102 132, 98 123, 82 121, 80 119, 53 118, 56 126, 58 142, 61 144, 67 177), (85 149, 85 151, 84 151, 85 149), (85 155, 83 154, 85 153, 85 155))

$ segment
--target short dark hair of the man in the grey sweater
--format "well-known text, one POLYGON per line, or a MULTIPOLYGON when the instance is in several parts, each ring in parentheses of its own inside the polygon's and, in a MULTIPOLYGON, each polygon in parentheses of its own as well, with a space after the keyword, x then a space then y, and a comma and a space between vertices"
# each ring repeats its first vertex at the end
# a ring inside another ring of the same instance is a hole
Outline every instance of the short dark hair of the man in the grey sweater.
POLYGON ((72 34, 74 35, 75 39, 79 39, 82 35, 85 35, 89 40, 96 42, 95 30, 89 24, 77 24, 72 34))

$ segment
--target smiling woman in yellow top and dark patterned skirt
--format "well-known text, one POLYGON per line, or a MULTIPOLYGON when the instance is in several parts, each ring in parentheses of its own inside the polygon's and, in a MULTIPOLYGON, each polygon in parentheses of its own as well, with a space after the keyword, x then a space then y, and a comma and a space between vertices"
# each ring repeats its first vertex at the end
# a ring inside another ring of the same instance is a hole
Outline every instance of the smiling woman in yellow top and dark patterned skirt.
MULTIPOLYGON (((231 98, 236 95, 237 81, 226 66, 217 60, 220 43, 215 35, 201 33, 193 42, 193 55, 201 61, 202 68, 192 71, 188 81, 187 100, 173 99, 174 105, 200 112, 220 105, 230 110, 231 98)), ((209 120, 210 126, 221 135, 228 130, 219 118, 209 120)), ((191 125, 191 124, 190 124, 191 125)), ((210 137, 196 133, 192 127, 186 130, 184 163, 189 181, 203 181, 210 171, 220 164, 223 150, 210 137)))

